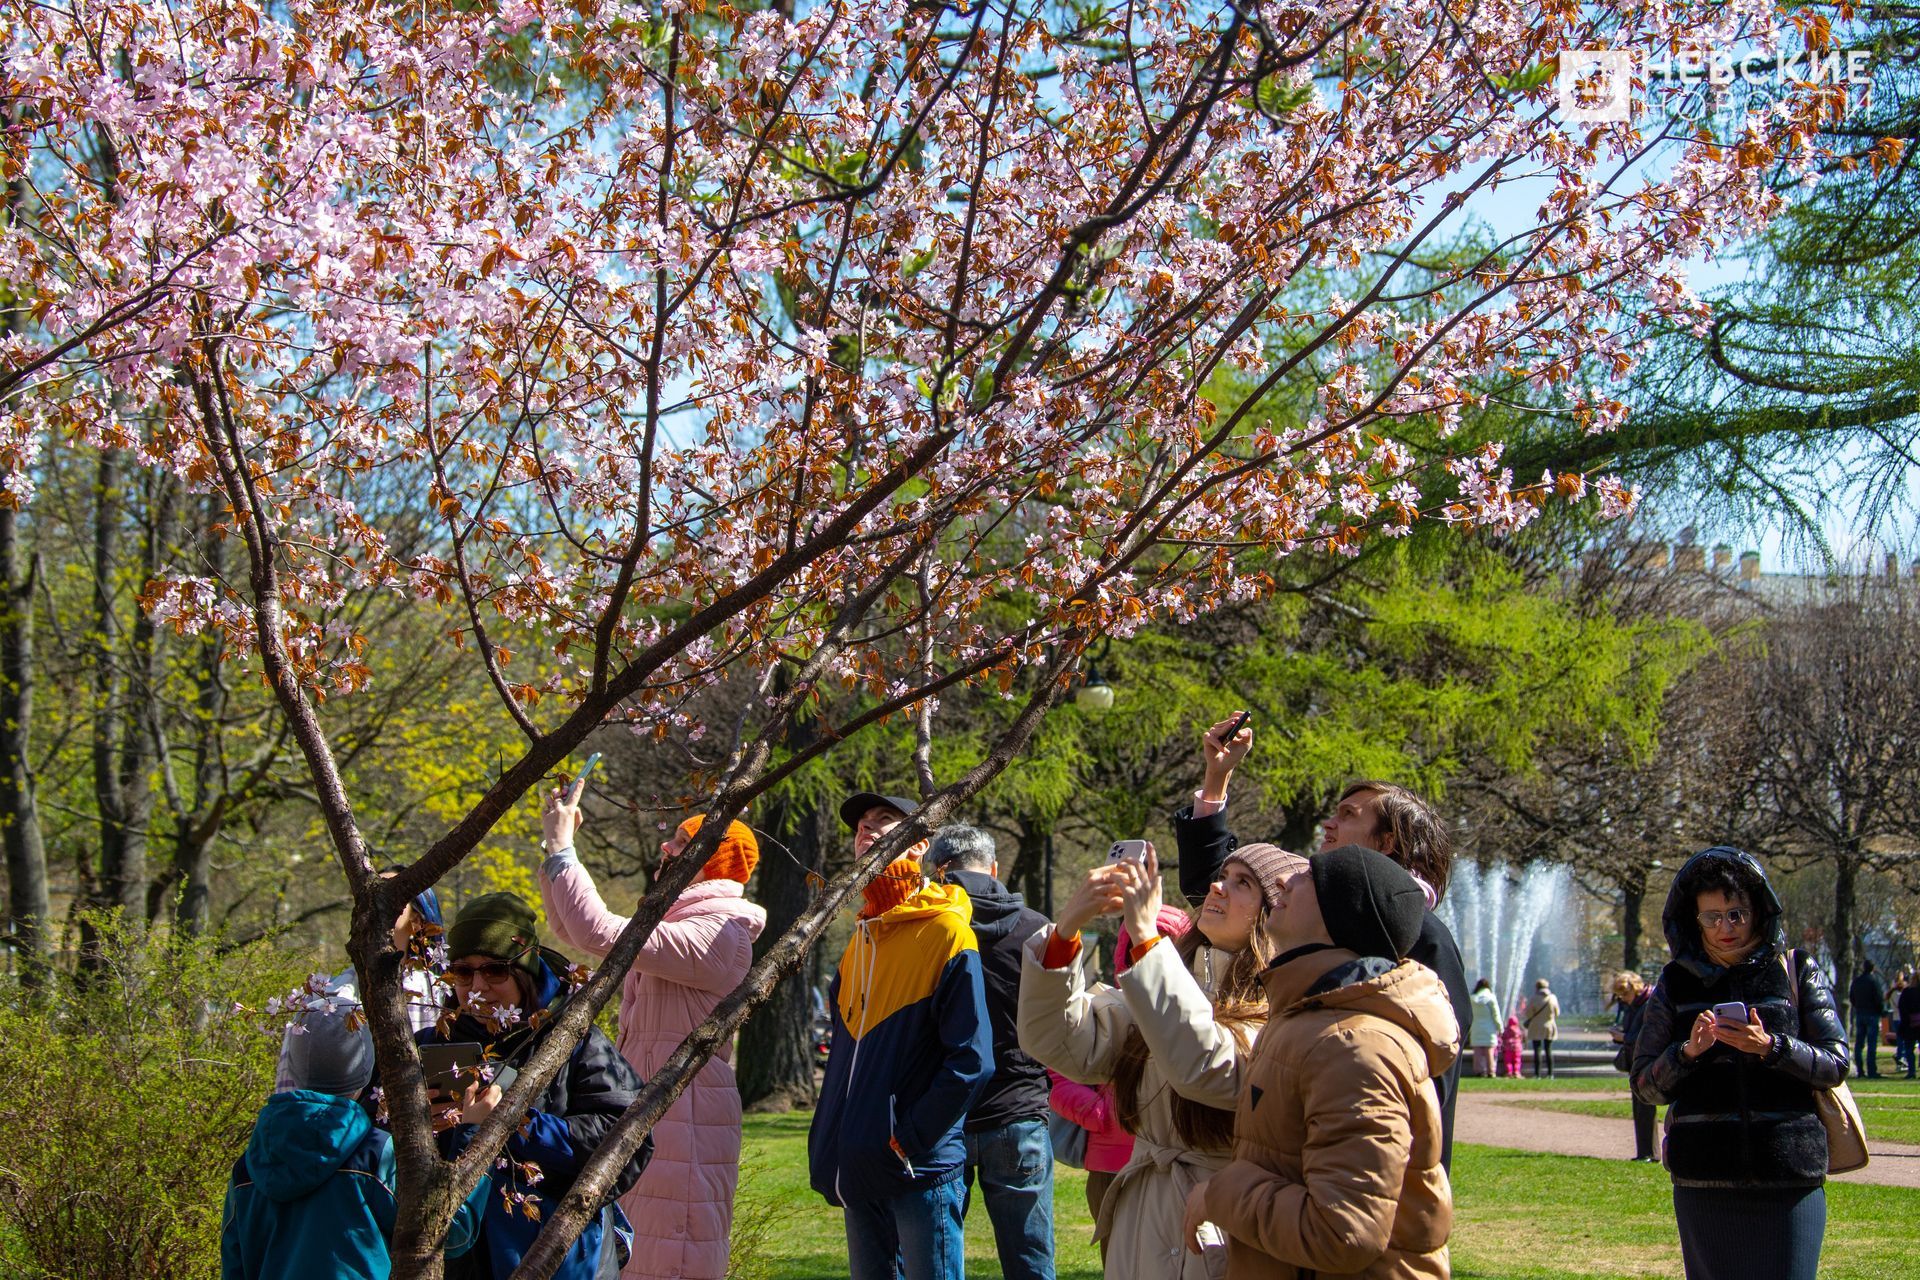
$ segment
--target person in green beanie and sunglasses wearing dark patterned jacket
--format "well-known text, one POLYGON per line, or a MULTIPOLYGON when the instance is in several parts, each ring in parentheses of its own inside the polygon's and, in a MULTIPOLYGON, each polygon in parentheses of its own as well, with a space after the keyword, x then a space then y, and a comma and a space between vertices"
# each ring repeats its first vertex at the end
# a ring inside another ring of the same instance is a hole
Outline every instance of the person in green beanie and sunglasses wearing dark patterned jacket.
MULTIPOLYGON (((545 1034, 566 998, 566 958, 540 946, 534 908, 511 892, 482 894, 461 908, 447 929, 445 979, 455 1009, 415 1036, 420 1044, 480 1044, 492 1059, 518 1069, 545 1034)), ((493 1196, 480 1224, 480 1247, 447 1265, 447 1280, 507 1280, 534 1244, 541 1224, 572 1190, 588 1157, 614 1121, 634 1105, 641 1080, 599 1027, 588 1029, 566 1065, 507 1138, 505 1167, 495 1165, 493 1196), (538 1171, 538 1176, 536 1176, 538 1171), (532 1209, 532 1213, 528 1213, 532 1209)), ((490 1090, 497 1100, 497 1086, 490 1090)), ((440 1132, 440 1151, 453 1159, 472 1142, 463 1117, 440 1132)), ((436 1121, 438 1125, 438 1121, 436 1121)), ((653 1157, 649 1136, 609 1190, 599 1217, 588 1224, 553 1272, 557 1280, 595 1280, 626 1263, 626 1215, 612 1201, 624 1196, 653 1157), (605 1268, 605 1270, 603 1270, 605 1268)))

